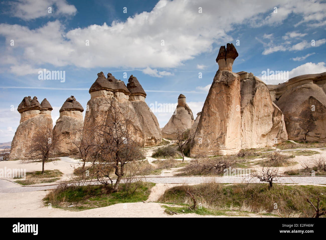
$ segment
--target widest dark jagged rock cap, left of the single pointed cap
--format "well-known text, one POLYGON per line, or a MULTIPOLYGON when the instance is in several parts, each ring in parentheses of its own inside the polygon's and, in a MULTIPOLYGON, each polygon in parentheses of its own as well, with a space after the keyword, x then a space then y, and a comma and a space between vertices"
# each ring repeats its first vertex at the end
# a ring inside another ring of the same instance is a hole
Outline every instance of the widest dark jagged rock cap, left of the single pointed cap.
POLYGON ((97 73, 97 79, 89 89, 89 93, 99 91, 99 90, 107 90, 112 92, 123 92, 126 95, 129 95, 124 81, 117 80, 112 74, 108 73, 108 78, 105 78, 103 72, 97 73))

